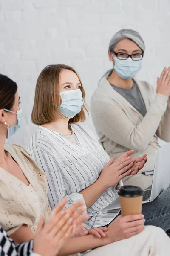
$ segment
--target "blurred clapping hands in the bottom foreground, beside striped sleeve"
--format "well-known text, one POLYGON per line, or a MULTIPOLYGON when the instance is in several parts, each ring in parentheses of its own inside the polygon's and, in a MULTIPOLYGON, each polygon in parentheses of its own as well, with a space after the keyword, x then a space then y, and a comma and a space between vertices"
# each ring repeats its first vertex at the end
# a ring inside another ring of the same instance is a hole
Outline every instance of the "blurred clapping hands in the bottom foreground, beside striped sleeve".
MULTIPOLYGON (((85 212, 82 207, 84 202, 73 204, 66 210, 62 208, 67 203, 65 198, 57 207, 52 210, 48 222, 45 224, 44 217, 41 216, 40 224, 34 236, 34 253, 42 256, 56 256, 62 248, 66 239, 73 233, 73 223, 78 225, 88 219, 88 215, 80 216, 85 212)), ((78 230, 84 228, 84 224, 78 230)))

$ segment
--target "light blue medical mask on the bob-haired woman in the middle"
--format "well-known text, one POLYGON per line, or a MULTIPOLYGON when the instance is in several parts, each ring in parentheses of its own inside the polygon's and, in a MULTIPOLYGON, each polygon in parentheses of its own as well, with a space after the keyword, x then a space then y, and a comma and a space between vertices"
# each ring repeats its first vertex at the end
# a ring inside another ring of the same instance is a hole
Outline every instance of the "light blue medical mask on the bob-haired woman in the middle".
POLYGON ((84 100, 80 89, 61 92, 60 96, 62 99, 60 111, 64 116, 73 118, 82 110, 84 100))

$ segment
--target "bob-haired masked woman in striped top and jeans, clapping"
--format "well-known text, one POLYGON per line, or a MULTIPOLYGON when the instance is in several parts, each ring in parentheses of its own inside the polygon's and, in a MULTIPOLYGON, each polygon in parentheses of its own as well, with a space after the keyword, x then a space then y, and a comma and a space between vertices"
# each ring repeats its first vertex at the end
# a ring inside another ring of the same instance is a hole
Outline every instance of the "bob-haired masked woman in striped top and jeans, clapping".
MULTIPOLYGON (((85 120, 85 91, 76 71, 66 65, 48 65, 35 90, 32 121, 40 125, 28 143, 28 151, 48 177, 48 200, 54 208, 62 198, 66 207, 84 201, 90 218, 86 229, 108 225, 118 215, 102 209, 119 196, 121 180, 142 169, 146 155, 129 157, 128 151, 114 163, 85 120), (81 122, 79 122, 81 121, 81 122)), ((170 229, 170 189, 144 204, 146 225, 170 229)), ((114 221, 113 221, 114 223, 114 221)))

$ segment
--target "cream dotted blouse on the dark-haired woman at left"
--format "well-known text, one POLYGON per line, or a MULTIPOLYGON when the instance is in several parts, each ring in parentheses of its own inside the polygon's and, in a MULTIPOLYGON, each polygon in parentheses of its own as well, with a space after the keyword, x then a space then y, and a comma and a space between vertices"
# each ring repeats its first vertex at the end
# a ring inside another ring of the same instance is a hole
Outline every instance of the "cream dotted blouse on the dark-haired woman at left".
POLYGON ((29 186, 0 168, 0 225, 10 235, 23 224, 34 233, 40 215, 47 220, 50 207, 47 199, 47 177, 19 145, 5 145, 30 182, 29 186))

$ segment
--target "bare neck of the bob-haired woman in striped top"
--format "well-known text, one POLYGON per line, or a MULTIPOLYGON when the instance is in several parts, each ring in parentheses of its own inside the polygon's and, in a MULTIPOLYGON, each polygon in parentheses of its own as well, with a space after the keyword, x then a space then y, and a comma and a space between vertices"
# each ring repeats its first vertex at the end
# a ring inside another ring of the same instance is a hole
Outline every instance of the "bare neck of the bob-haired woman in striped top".
POLYGON ((54 122, 49 122, 48 124, 41 125, 51 131, 57 131, 61 135, 70 135, 72 134, 70 129, 68 128, 69 118, 59 119, 54 122))

